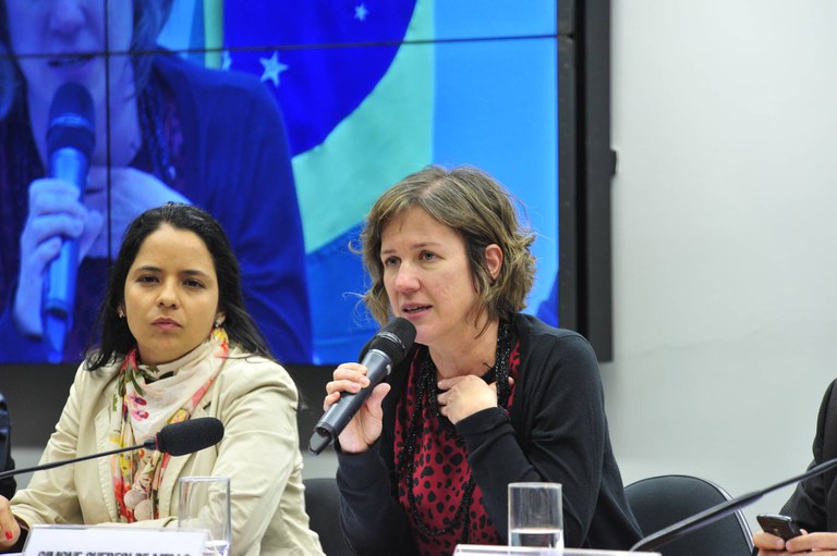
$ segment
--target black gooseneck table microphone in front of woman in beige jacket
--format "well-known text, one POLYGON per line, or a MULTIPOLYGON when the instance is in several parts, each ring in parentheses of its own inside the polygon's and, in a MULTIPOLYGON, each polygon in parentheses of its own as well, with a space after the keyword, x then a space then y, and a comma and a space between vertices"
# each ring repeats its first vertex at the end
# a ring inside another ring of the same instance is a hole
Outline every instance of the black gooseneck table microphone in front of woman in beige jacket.
POLYGON ((163 427, 153 438, 148 438, 136 446, 111 449, 100 454, 90 454, 72 459, 62 459, 61 461, 51 461, 43 466, 26 467, 23 469, 11 469, 0 473, 0 479, 12 477, 20 473, 29 473, 32 471, 44 471, 68 464, 76 464, 88 459, 104 456, 112 456, 122 452, 132 452, 135 449, 156 449, 172 456, 185 456, 193 452, 199 452, 209 446, 218 444, 223 437, 223 423, 215 417, 199 417, 179 423, 171 423, 163 427))

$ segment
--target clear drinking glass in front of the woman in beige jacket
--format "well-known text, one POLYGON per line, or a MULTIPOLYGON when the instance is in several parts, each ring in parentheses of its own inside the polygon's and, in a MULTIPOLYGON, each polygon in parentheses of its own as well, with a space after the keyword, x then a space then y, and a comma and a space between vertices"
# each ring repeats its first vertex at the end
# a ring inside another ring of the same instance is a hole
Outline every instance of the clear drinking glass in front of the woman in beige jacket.
POLYGON ((208 532, 204 556, 227 556, 232 542, 229 477, 182 477, 178 527, 208 532))

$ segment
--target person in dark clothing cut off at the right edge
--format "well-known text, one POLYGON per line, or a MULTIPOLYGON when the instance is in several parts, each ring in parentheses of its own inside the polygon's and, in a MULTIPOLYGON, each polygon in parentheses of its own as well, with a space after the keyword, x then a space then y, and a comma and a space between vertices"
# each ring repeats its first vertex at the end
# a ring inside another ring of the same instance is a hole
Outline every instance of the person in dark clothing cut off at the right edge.
MULTIPOLYGON (((832 382, 823 397, 814 437, 814 459, 809 469, 837 458, 837 381, 832 382)), ((837 471, 826 471, 797 484, 796 491, 781 508, 804 534, 787 542, 764 531, 753 535, 760 556, 783 554, 837 554, 837 471), (829 552, 833 551, 833 552, 829 552)))

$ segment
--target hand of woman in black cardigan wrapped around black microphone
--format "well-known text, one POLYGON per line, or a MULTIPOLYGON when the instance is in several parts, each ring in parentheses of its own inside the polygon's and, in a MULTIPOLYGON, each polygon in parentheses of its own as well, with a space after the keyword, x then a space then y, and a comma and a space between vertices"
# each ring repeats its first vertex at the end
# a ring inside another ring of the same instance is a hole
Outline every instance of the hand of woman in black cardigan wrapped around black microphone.
MULTIPOLYGON (((342 363, 332 374, 332 381, 326 384, 326 398, 323 409, 328 408, 340 399, 342 392, 357 393, 369 386, 366 378, 368 369, 361 363, 342 363)), ((352 417, 338 436, 340 449, 347 454, 366 452, 380 437, 383 430, 384 409, 381 403, 389 393, 390 385, 383 382, 375 386, 361 409, 352 417)))

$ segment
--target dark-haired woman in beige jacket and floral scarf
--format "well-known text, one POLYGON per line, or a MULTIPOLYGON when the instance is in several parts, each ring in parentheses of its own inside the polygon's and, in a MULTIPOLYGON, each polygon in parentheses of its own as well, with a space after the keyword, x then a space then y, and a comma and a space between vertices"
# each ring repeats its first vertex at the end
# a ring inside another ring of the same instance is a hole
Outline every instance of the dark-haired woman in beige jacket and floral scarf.
POLYGON ((230 477, 232 554, 322 554, 308 529, 298 393, 241 294, 232 248, 207 212, 167 203, 140 215, 117 256, 98 322, 41 464, 134 446, 211 416, 223 440, 192 455, 128 452, 36 472, 0 497, 0 549, 35 523, 177 527, 180 477, 230 477))

